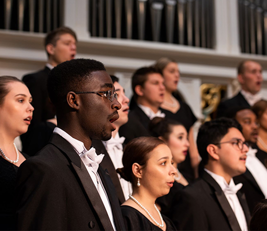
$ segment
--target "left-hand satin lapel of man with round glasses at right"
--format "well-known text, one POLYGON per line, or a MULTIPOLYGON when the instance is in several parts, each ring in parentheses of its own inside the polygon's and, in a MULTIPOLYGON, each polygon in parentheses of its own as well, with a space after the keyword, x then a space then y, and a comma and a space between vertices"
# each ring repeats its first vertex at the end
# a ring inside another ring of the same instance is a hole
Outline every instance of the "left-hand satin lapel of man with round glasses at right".
POLYGON ((221 190, 220 186, 217 184, 217 182, 212 178, 211 175, 209 175, 206 171, 203 172, 202 178, 214 189, 215 196, 218 200, 218 203, 220 204, 222 210, 224 211, 225 215, 228 218, 230 227, 232 230, 240 230, 241 228, 238 224, 238 221, 235 217, 235 214, 224 195, 223 191, 221 190))

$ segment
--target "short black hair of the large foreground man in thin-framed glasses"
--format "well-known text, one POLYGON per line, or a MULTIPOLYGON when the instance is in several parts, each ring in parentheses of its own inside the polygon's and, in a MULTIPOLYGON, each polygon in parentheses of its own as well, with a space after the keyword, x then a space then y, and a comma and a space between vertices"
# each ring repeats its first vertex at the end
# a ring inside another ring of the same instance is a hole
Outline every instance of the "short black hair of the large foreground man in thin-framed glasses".
POLYGON ((94 59, 76 58, 64 61, 48 74, 47 90, 51 102, 58 105, 64 102, 69 91, 81 91, 86 79, 91 77, 94 71, 104 70, 102 62, 94 59))

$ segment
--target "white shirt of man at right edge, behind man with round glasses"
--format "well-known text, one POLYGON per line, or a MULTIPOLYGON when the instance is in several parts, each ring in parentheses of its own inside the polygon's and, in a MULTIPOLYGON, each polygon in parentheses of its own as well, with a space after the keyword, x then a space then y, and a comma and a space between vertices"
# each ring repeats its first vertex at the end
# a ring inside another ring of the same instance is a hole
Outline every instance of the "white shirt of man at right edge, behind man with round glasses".
POLYGON ((248 152, 246 152, 245 166, 253 175, 265 198, 267 198, 267 168, 256 157, 256 152, 257 149, 252 149, 249 146, 248 152))

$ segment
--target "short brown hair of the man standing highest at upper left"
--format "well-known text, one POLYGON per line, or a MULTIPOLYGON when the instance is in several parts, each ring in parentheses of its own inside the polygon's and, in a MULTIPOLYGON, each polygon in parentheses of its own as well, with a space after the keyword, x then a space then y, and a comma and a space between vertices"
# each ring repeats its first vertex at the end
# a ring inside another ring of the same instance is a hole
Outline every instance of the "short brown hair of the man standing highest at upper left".
MULTIPOLYGON (((58 27, 58 28, 50 31, 49 33, 47 33, 47 35, 44 38, 44 47, 46 47, 46 45, 49 43, 51 43, 53 46, 55 46, 56 41, 59 39, 59 36, 62 34, 65 34, 65 33, 69 33, 77 41, 76 34, 72 29, 70 29, 69 27, 61 26, 61 27, 58 27)), ((46 51, 46 53, 47 53, 47 51, 46 51)), ((47 55, 49 56, 48 53, 47 53, 47 55)))

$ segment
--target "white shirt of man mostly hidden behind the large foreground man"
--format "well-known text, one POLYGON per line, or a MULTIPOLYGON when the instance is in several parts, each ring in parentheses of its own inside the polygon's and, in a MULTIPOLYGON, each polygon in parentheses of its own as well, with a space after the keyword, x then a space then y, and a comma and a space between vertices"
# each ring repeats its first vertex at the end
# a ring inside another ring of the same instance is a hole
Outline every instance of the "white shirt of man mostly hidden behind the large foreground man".
MULTIPOLYGON (((123 146, 122 143, 124 141, 124 137, 119 137, 118 132, 116 133, 115 137, 111 137, 111 139, 102 141, 102 143, 105 146, 106 151, 108 152, 110 159, 115 167, 121 168, 123 167, 122 164, 122 155, 123 155, 123 146)), ((132 187, 131 183, 125 179, 123 179, 118 173, 117 173, 123 195, 125 197, 125 200, 129 198, 129 194, 132 193, 132 187)))

